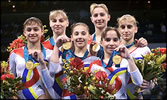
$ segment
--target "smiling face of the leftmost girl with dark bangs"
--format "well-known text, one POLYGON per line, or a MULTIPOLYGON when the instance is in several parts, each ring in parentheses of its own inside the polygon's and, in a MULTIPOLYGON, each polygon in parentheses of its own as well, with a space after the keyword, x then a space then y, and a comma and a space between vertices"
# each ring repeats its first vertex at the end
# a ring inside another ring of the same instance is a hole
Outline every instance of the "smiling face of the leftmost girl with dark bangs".
POLYGON ((31 43, 40 41, 43 33, 44 30, 42 30, 38 24, 26 25, 24 29, 24 35, 26 36, 27 41, 31 43))

